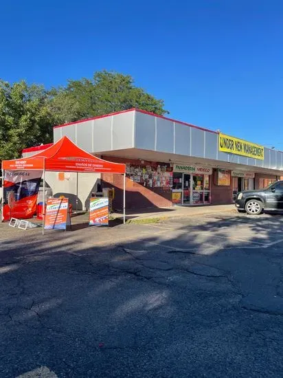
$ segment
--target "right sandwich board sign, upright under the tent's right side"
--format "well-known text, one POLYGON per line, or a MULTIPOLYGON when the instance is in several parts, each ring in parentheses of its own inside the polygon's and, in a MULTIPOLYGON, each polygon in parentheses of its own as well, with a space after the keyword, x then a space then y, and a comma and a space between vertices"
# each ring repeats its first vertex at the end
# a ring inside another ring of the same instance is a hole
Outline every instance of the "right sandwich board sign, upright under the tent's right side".
POLYGON ((109 225, 109 199, 91 198, 89 203, 89 225, 109 225))

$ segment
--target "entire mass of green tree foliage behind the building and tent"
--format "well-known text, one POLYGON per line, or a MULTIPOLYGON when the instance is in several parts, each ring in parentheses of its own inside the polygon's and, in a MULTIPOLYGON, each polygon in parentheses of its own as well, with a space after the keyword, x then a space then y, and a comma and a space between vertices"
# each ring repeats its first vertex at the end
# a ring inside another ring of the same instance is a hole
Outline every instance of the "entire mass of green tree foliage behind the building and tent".
POLYGON ((129 75, 99 71, 92 79, 69 80, 45 89, 21 80, 0 80, 0 160, 15 159, 25 147, 52 142, 53 126, 131 108, 163 115, 163 100, 135 87, 129 75))

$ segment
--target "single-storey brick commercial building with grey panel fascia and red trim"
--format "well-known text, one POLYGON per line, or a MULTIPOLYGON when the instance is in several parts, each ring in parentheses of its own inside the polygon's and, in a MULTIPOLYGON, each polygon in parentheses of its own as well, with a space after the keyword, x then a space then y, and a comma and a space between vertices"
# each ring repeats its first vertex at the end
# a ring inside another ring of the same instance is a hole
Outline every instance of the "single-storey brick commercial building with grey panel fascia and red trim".
MULTIPOLYGON (((126 208, 210 205, 234 201, 236 192, 258 189, 280 179, 283 152, 185 122, 131 109, 54 127, 80 148, 126 164, 126 208)), ((46 146, 27 148, 23 156, 46 146)), ((49 173, 54 194, 72 198, 73 173, 49 173)), ((79 207, 92 192, 114 188, 113 208, 122 209, 122 177, 80 174, 79 207)))

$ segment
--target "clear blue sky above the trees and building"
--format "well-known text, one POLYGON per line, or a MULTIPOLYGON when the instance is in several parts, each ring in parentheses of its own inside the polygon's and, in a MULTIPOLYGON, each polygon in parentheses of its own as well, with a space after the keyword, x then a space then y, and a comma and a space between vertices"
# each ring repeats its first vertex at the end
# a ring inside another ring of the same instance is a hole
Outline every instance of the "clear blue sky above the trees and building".
POLYGON ((112 69, 172 118, 283 149, 281 0, 11 0, 0 14, 4 80, 112 69))

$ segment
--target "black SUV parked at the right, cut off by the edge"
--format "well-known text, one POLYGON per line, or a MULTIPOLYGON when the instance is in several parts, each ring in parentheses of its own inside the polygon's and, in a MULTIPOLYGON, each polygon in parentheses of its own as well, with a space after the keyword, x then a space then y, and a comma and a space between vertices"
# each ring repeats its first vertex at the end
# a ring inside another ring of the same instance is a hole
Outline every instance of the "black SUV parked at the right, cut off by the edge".
POLYGON ((239 212, 251 215, 258 215, 263 210, 283 211, 283 181, 276 181, 264 189, 239 192, 235 204, 239 212))

